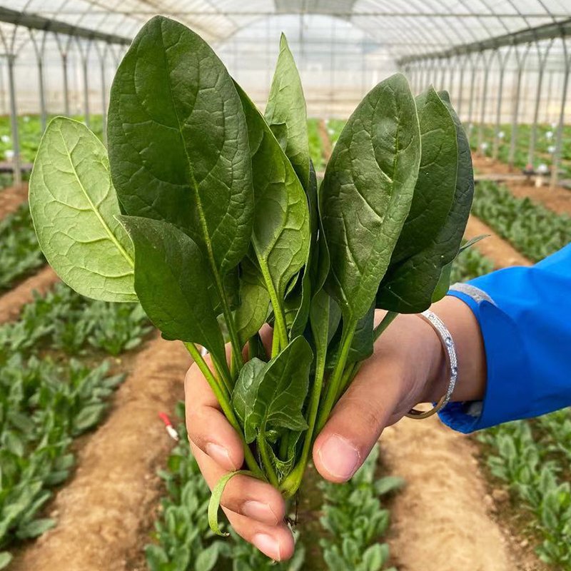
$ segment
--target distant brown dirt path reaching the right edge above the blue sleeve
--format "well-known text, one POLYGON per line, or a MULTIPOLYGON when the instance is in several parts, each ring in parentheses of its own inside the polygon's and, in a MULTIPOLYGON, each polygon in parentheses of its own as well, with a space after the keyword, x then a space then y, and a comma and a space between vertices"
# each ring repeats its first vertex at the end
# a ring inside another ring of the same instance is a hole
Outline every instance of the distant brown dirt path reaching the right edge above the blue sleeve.
MULTIPOLYGON (((493 161, 488 157, 475 154, 473 155, 473 160, 474 168, 477 168, 480 173, 507 174, 510 172, 505 163, 493 161)), ((522 183, 521 181, 506 180, 504 183, 517 198, 525 198, 527 196, 527 198, 541 203, 545 208, 549 208, 557 214, 568 214, 571 216, 571 191, 567 188, 562 186, 550 188, 548 181, 547 186, 540 186, 540 188, 535 188, 533 184, 522 183)))

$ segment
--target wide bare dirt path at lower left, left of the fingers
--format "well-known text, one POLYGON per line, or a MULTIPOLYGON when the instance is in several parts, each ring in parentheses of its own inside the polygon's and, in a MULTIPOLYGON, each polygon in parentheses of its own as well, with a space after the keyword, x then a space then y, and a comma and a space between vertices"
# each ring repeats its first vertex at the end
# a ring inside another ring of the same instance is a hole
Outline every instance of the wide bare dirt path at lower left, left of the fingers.
POLYGON ((11 571, 125 571, 148 541, 172 440, 158 419, 183 397, 191 360, 181 343, 154 338, 137 355, 107 420, 79 453, 56 495, 58 525, 14 558, 11 571))

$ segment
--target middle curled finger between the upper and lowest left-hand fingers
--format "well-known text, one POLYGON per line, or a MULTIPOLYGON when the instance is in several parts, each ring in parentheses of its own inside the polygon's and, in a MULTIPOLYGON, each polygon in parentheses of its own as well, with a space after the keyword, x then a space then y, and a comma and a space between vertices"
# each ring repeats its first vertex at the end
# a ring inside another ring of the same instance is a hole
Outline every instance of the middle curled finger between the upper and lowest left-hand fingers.
MULTIPOLYGON (((191 449, 206 483, 212 489, 226 474, 226 470, 193 443, 191 449)), ((285 502, 280 492, 266 482, 245 475, 231 478, 224 488, 220 503, 226 510, 251 520, 252 524, 258 522, 268 527, 281 525, 285 515, 285 502)))

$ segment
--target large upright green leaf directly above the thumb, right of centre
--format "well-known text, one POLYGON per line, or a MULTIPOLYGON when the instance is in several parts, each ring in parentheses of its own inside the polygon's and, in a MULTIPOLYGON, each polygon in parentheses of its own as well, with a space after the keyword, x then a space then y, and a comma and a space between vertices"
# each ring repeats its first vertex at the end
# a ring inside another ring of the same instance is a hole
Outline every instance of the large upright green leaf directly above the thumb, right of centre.
POLYGON ((420 128, 404 76, 382 81, 343 128, 325 169, 326 286, 347 323, 367 313, 413 201, 420 128))

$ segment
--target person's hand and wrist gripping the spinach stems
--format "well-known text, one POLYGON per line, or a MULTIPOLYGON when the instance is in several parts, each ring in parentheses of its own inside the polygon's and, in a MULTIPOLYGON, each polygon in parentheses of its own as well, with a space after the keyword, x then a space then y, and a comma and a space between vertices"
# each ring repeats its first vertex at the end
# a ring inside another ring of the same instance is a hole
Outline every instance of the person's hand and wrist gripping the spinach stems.
MULTIPOLYGON (((445 298, 433 310, 455 338, 460 380, 469 380, 459 383, 454 399, 481 398, 485 360, 472 312, 456 298, 445 298)), ((378 323, 384 312, 377 313, 378 323)), ((271 338, 268 328, 262 336, 271 338)), ((438 335, 417 315, 399 315, 375 344, 375 352, 363 363, 315 439, 315 468, 326 480, 345 482, 363 464, 386 426, 418 403, 438 400, 447 381, 438 335)), ((225 473, 241 468, 242 443, 196 365, 186 375, 185 393, 188 438, 212 488, 225 473)), ((268 557, 287 560, 293 555, 293 536, 284 522, 285 502, 275 487, 238 475, 226 485, 221 506, 238 535, 268 557)))

